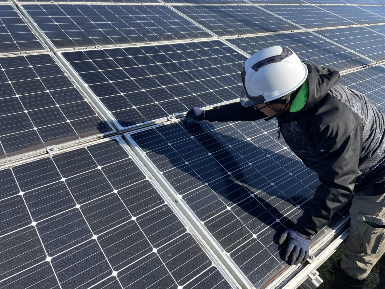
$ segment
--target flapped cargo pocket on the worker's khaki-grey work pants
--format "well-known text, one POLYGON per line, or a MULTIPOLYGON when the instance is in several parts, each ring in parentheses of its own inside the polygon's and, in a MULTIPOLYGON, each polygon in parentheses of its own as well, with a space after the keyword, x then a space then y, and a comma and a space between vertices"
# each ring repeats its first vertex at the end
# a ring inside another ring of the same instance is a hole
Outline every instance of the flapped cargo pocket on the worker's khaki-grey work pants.
POLYGON ((377 254, 383 245, 385 218, 357 213, 355 230, 349 236, 349 245, 365 254, 377 254))

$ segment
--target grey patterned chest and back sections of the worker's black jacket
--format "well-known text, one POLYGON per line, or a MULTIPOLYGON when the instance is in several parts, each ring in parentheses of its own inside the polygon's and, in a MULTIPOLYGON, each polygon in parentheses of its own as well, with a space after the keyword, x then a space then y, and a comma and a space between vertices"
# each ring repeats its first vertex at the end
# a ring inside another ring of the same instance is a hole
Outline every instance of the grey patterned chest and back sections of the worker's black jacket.
MULTIPOLYGON (((338 84, 328 92, 352 109, 364 124, 363 146, 357 171, 355 194, 371 195, 373 184, 385 180, 385 115, 362 93, 338 84)), ((297 121, 281 123, 281 133, 291 150, 311 170, 318 172, 315 144, 305 140, 297 121)))

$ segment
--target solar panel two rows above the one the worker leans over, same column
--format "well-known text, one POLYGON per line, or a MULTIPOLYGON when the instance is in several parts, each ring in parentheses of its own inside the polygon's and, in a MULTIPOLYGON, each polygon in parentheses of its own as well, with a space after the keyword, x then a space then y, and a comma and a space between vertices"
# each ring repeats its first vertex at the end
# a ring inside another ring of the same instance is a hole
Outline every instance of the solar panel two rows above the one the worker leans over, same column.
POLYGON ((22 5, 52 49, 212 37, 166 5, 22 5))

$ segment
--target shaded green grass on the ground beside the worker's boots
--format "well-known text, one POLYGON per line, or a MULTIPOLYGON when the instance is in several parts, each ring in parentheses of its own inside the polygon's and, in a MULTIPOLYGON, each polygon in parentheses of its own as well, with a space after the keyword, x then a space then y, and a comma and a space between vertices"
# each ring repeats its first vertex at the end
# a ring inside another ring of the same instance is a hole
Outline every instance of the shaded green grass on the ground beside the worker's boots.
MULTIPOLYGON (((333 268, 338 259, 342 257, 342 247, 338 249, 333 255, 329 257, 320 267, 318 267, 317 271, 320 273, 320 277, 323 282, 321 283, 319 289, 324 289, 328 285, 331 276, 333 275, 333 268)), ((366 286, 374 288, 378 283, 378 265, 375 265, 370 272, 368 279, 365 282, 366 286)))

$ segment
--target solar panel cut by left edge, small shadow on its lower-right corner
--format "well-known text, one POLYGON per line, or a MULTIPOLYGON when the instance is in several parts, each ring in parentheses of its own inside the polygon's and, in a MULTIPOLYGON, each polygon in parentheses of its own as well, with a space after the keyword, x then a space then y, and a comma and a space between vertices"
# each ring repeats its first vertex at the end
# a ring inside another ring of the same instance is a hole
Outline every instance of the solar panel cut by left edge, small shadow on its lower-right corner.
POLYGON ((111 133, 51 54, 0 57, 0 158, 111 133))

